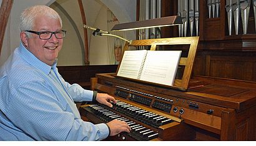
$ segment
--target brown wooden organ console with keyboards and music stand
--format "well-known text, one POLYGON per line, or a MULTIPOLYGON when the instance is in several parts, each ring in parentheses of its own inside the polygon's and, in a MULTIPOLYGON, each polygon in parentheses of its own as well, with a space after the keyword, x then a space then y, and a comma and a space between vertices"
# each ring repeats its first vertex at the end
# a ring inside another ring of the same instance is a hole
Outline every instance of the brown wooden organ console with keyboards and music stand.
POLYGON ((209 76, 190 79, 198 41, 199 37, 180 37, 126 44, 125 50, 182 44, 189 45, 189 51, 180 58, 182 67, 172 87, 120 78, 116 73, 97 74, 91 79, 92 89, 114 96, 117 104, 112 108, 85 104, 80 107, 82 119, 94 123, 121 119, 132 127, 129 134, 106 140, 255 140, 256 84, 209 76))

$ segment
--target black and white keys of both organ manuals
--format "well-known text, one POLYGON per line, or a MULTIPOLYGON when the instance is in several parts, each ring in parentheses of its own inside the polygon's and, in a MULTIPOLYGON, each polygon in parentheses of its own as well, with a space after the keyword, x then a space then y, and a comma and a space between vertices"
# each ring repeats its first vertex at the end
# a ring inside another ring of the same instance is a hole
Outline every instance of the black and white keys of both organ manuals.
MULTIPOLYGON (((99 119, 104 122, 110 122, 114 119, 127 122, 127 124, 132 129, 128 135, 136 140, 155 139, 158 137, 158 132, 144 127, 144 125, 141 125, 134 120, 127 119, 126 117, 118 114, 116 111, 119 111, 122 114, 127 114, 130 117, 134 116, 138 121, 147 125, 152 125, 153 127, 159 127, 160 125, 172 122, 171 119, 159 116, 149 111, 145 111, 144 109, 140 109, 139 107, 135 107, 121 101, 117 101, 117 103, 114 104, 114 110, 107 109, 106 107, 98 104, 92 104, 90 106, 84 107, 84 109, 88 112, 91 112, 92 114, 97 115, 97 117, 99 117, 99 119)), ((122 137, 122 139, 126 138, 122 137)))

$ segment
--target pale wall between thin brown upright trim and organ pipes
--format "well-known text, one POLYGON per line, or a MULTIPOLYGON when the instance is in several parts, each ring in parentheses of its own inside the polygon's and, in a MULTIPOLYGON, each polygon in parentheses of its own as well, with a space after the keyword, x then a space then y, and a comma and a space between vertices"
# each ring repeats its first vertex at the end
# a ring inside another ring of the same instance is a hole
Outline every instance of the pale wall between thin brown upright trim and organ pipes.
MULTIPOLYGON (((117 17, 119 22, 135 21, 136 16, 136 1, 134 0, 101 0, 104 4, 98 11, 97 16, 94 16, 94 23, 88 24, 92 27, 107 30, 107 9, 110 9, 117 17)), ((86 13, 88 14, 88 13, 86 13)), ((90 21, 93 22, 93 21, 90 21)), ((92 31, 89 31, 92 33, 92 31)), ((91 34, 90 33, 90 34, 91 34)), ((135 31, 126 32, 126 39, 134 40, 135 31)), ((89 61, 90 65, 106 65, 109 63, 108 43, 106 36, 89 35, 89 61)))

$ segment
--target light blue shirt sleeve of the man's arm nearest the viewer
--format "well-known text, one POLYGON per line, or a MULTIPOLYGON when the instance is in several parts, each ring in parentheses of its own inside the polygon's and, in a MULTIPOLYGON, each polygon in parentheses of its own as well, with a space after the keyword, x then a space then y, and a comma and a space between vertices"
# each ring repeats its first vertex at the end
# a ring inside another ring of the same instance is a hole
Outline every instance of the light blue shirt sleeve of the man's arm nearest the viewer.
POLYGON ((106 124, 75 119, 54 92, 40 81, 12 89, 9 119, 35 140, 102 140, 109 135, 106 124))

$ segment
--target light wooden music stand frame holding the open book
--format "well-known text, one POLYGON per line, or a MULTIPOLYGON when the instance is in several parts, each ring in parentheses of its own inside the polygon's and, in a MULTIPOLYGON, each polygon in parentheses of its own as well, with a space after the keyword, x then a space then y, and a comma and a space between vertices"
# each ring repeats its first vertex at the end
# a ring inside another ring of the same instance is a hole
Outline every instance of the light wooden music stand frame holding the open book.
MULTIPOLYGON (((164 39, 132 40, 131 43, 126 43, 126 45, 124 46, 124 51, 129 50, 128 49, 129 47, 139 47, 139 46, 150 46, 150 50, 155 50, 157 45, 190 45, 187 57, 180 57, 179 65, 185 66, 182 78, 181 79, 176 78, 174 81, 174 85, 168 86, 169 88, 187 90, 189 86, 189 80, 192 73, 193 64, 194 64, 195 54, 197 52, 198 42, 199 42, 199 37, 175 37, 175 38, 164 38, 164 39)), ((119 63, 117 72, 119 70, 120 65, 121 63, 119 63)), ((163 86, 166 86, 166 85, 163 85, 163 86)))

